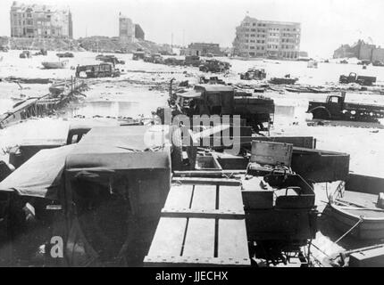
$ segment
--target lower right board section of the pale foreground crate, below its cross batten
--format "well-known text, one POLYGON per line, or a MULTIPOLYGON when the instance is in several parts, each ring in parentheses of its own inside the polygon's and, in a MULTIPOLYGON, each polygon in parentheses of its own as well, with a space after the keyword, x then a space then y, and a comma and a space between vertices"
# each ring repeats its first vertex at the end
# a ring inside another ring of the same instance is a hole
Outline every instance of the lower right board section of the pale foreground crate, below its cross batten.
POLYGON ((249 258, 246 220, 219 220, 218 257, 249 258))

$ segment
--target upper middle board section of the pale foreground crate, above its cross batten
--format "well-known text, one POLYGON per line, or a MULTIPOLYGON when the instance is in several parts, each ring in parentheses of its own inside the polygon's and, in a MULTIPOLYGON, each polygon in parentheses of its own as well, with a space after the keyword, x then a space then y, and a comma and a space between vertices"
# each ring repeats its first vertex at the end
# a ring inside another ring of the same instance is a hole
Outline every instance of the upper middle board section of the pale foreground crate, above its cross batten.
POLYGON ((195 185, 192 198, 192 209, 215 209, 216 208, 216 186, 195 185))

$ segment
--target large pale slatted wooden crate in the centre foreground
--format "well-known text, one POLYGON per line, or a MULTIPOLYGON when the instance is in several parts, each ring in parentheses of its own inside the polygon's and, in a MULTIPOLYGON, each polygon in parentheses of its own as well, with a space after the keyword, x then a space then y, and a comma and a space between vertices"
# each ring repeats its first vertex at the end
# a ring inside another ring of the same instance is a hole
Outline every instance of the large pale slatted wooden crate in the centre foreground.
POLYGON ((250 265, 240 186, 172 186, 144 263, 250 265))

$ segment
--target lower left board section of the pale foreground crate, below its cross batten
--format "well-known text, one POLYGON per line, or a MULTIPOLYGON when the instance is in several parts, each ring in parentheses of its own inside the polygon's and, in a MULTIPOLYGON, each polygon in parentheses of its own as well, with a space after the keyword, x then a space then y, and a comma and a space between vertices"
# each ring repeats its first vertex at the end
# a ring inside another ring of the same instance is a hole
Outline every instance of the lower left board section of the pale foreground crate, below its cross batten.
POLYGON ((187 218, 160 218, 149 256, 180 256, 187 218))

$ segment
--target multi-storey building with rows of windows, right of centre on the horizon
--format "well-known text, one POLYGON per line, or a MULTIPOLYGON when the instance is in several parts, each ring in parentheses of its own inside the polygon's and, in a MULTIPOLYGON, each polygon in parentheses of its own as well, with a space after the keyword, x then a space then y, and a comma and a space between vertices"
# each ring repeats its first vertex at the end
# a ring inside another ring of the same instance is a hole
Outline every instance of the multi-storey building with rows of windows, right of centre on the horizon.
POLYGON ((300 41, 300 23, 257 20, 246 16, 236 28, 233 53, 243 57, 296 60, 300 41))

